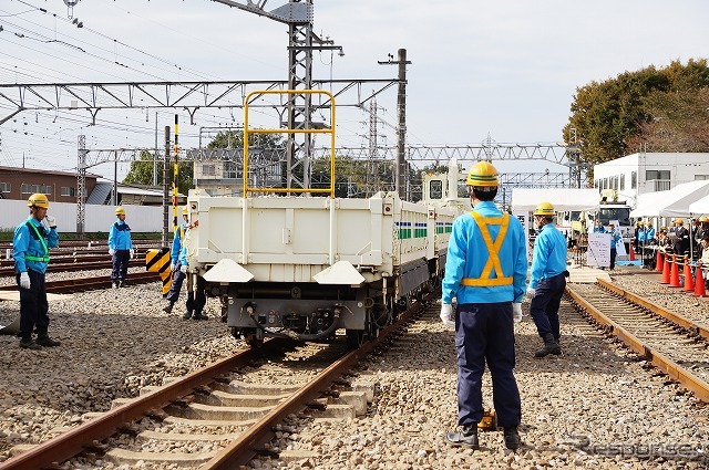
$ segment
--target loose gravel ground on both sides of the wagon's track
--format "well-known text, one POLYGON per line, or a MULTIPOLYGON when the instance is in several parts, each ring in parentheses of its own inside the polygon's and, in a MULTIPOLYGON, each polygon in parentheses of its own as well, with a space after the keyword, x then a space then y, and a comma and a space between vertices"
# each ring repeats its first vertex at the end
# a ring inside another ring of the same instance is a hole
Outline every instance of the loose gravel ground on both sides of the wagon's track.
MULTIPOLYGON (((660 293, 671 295, 667 306, 709 317, 705 301, 626 272, 618 270, 614 281, 644 295, 655 292, 656 303, 661 304, 660 293)), ((0 336, 0 461, 14 445, 40 442, 79 422, 83 412, 107 409, 113 398, 135 396, 143 385, 161 384, 242 347, 217 320, 217 300, 209 300, 209 321, 183 321, 182 310, 162 312, 158 289, 152 283, 52 302, 50 333, 62 341, 58 348, 24 351, 16 337, 0 336)), ((4 302, 0 323, 13 320, 18 309, 4 302)), ((366 361, 357 380, 376 384, 366 416, 346 424, 291 418, 296 432, 280 434, 273 445, 317 457, 297 463, 255 460, 250 467, 709 467, 709 460, 690 460, 709 452, 709 407, 595 332, 568 304, 562 307, 562 356, 533 357, 541 341, 528 316, 516 334, 522 450, 504 449, 500 431, 482 432, 479 451, 444 442, 444 432, 456 427, 456 366, 453 333, 434 307, 410 327, 403 343, 366 361)), ((491 388, 486 375, 487 407, 491 388)))

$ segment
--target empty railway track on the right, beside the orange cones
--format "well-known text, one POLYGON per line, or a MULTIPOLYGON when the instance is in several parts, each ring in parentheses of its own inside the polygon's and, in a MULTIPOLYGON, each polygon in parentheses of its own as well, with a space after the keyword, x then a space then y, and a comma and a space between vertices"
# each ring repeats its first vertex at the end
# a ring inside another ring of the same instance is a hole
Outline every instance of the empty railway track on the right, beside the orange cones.
POLYGON ((593 323, 709 403, 709 328, 612 283, 567 285, 593 323))

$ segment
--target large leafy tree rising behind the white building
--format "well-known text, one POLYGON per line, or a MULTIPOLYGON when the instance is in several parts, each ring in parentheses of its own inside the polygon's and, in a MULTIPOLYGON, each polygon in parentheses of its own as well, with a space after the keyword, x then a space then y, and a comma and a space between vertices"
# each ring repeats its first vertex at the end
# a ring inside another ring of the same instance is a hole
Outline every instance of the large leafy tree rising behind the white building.
POLYGON ((699 152, 707 148, 701 125, 707 121, 701 107, 707 88, 703 59, 592 82, 576 90, 564 139, 571 143, 576 135, 582 159, 590 164, 623 157, 640 145, 648 152, 699 152))

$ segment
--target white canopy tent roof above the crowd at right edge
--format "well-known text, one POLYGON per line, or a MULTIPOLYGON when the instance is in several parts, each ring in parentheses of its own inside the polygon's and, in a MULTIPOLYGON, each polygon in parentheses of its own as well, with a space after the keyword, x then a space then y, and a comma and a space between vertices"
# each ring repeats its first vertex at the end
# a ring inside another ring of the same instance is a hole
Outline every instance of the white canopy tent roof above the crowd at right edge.
POLYGON ((709 180, 684 182, 667 191, 638 196, 630 217, 687 217, 689 205, 709 196, 709 180))

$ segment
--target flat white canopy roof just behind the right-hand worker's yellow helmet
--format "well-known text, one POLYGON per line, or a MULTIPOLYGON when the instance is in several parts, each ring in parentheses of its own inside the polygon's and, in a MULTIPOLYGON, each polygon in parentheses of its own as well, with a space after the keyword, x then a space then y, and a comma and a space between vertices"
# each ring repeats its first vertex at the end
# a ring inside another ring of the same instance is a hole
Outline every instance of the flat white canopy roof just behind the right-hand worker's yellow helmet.
POLYGON ((592 211, 598 209, 599 200, 598 189, 594 188, 513 188, 511 207, 513 212, 531 212, 541 202, 552 202, 557 212, 592 211))

